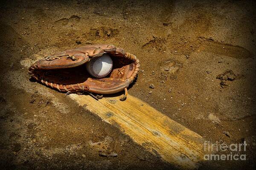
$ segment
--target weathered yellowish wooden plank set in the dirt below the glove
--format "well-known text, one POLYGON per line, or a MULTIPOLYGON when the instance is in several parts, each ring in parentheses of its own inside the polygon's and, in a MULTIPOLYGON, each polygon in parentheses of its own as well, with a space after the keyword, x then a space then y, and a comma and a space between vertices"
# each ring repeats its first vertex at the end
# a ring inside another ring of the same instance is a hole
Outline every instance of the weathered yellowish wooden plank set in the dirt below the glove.
POLYGON ((71 94, 79 105, 115 125, 151 153, 180 169, 197 169, 203 161, 204 139, 134 96, 125 101, 71 94))

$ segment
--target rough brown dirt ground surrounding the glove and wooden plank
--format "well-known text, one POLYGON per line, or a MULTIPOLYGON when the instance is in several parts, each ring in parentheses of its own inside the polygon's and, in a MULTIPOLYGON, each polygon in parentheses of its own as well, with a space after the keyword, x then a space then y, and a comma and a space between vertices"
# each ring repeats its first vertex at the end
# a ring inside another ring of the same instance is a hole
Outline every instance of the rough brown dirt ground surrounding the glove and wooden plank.
POLYGON ((35 60, 88 44, 113 44, 140 59, 130 95, 206 140, 247 142, 246 161, 211 161, 201 169, 255 168, 255 8, 249 0, 1 2, 1 169, 172 167, 29 79, 35 60))

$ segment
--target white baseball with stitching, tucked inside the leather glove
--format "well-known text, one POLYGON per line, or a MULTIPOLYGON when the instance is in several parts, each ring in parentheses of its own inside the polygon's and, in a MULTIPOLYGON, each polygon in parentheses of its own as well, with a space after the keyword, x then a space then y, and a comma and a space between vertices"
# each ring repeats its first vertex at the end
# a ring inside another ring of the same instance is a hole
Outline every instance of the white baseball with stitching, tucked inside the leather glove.
POLYGON ((86 63, 88 73, 96 78, 106 77, 113 68, 113 61, 108 54, 97 57, 86 63))

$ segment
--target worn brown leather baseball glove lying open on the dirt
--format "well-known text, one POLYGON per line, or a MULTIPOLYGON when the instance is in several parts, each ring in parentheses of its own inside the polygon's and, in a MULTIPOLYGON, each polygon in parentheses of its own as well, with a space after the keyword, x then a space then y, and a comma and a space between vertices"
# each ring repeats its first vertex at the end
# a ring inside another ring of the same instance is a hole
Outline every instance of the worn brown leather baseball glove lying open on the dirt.
POLYGON ((140 63, 133 54, 114 45, 86 45, 63 51, 36 61, 29 67, 29 75, 60 92, 83 94, 100 99, 103 94, 115 94, 125 90, 120 100, 125 100, 127 88, 137 77, 140 63), (86 71, 85 63, 108 53, 113 69, 107 77, 94 78, 86 71))

